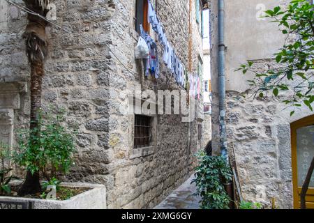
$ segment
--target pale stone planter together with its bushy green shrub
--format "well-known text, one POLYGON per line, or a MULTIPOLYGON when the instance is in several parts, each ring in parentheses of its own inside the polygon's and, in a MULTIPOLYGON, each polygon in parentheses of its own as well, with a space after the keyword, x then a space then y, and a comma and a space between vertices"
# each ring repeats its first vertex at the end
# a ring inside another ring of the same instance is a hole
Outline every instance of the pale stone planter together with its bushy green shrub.
MULTIPOLYGON (((63 112, 53 115, 40 112, 38 128, 19 132, 17 149, 11 156, 13 162, 25 171, 40 177, 40 192, 36 194, 11 193, 11 188, 20 191, 21 182, 10 183, 11 168, 3 168, 0 195, 2 203, 31 203, 31 208, 106 208, 105 187, 84 183, 61 183, 59 176, 67 174, 74 164, 75 132, 62 125, 63 112), (34 131, 34 132, 32 132, 34 131), (35 134, 36 132, 36 134, 35 134), (4 182, 4 183, 2 183, 4 182), (2 185, 3 184, 3 185, 2 185)), ((4 151, 4 150, 3 150, 4 151)), ((2 153, 0 153, 2 154, 2 153)), ((3 152, 3 157, 4 157, 3 152)), ((6 156, 8 157, 8 156, 6 156)), ((4 167, 4 166, 3 166, 4 167)), ((0 174, 1 177, 1 174, 0 174)), ((8 206, 6 206, 8 207, 8 206)))

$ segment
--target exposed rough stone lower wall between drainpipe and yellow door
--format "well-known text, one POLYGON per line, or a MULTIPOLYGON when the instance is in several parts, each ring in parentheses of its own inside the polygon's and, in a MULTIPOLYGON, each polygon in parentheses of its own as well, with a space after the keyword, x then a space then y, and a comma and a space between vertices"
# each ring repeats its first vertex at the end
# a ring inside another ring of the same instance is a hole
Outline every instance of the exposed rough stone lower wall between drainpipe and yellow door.
POLYGON ((228 108, 227 120, 239 114, 237 122, 227 121, 227 132, 232 131, 228 146, 230 153, 234 148, 244 198, 265 206, 271 206, 275 198, 280 208, 292 208, 288 116, 274 114, 277 108, 283 109, 276 100, 236 98, 237 93, 228 93, 227 104, 233 106, 228 108))

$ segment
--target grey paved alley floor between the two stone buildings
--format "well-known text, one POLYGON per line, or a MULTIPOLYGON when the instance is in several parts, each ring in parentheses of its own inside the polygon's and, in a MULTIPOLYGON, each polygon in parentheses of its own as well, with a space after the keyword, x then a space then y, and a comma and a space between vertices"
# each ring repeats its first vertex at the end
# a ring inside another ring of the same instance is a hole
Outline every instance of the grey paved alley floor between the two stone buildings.
POLYGON ((194 175, 188 178, 186 182, 177 190, 174 190, 163 202, 161 202, 154 209, 199 209, 200 197, 195 197, 196 192, 195 183, 190 184, 194 175))

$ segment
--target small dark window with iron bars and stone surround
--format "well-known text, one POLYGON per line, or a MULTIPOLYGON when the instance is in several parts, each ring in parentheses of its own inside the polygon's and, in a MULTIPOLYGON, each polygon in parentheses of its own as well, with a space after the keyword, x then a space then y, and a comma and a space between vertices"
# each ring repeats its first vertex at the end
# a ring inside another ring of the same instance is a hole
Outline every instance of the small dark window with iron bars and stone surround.
POLYGON ((134 148, 151 146, 151 117, 135 114, 134 148))

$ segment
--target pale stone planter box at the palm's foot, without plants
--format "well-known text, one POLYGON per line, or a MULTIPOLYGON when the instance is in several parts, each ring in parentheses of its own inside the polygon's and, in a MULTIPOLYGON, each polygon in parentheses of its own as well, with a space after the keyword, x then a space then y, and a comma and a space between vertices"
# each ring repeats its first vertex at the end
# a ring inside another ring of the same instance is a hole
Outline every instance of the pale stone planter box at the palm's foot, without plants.
POLYGON ((87 188, 86 192, 78 194, 66 201, 54 201, 44 199, 28 199, 22 197, 0 197, 0 208, 11 206, 27 209, 106 209, 106 188, 104 185, 87 183, 63 183, 63 187, 87 188))

